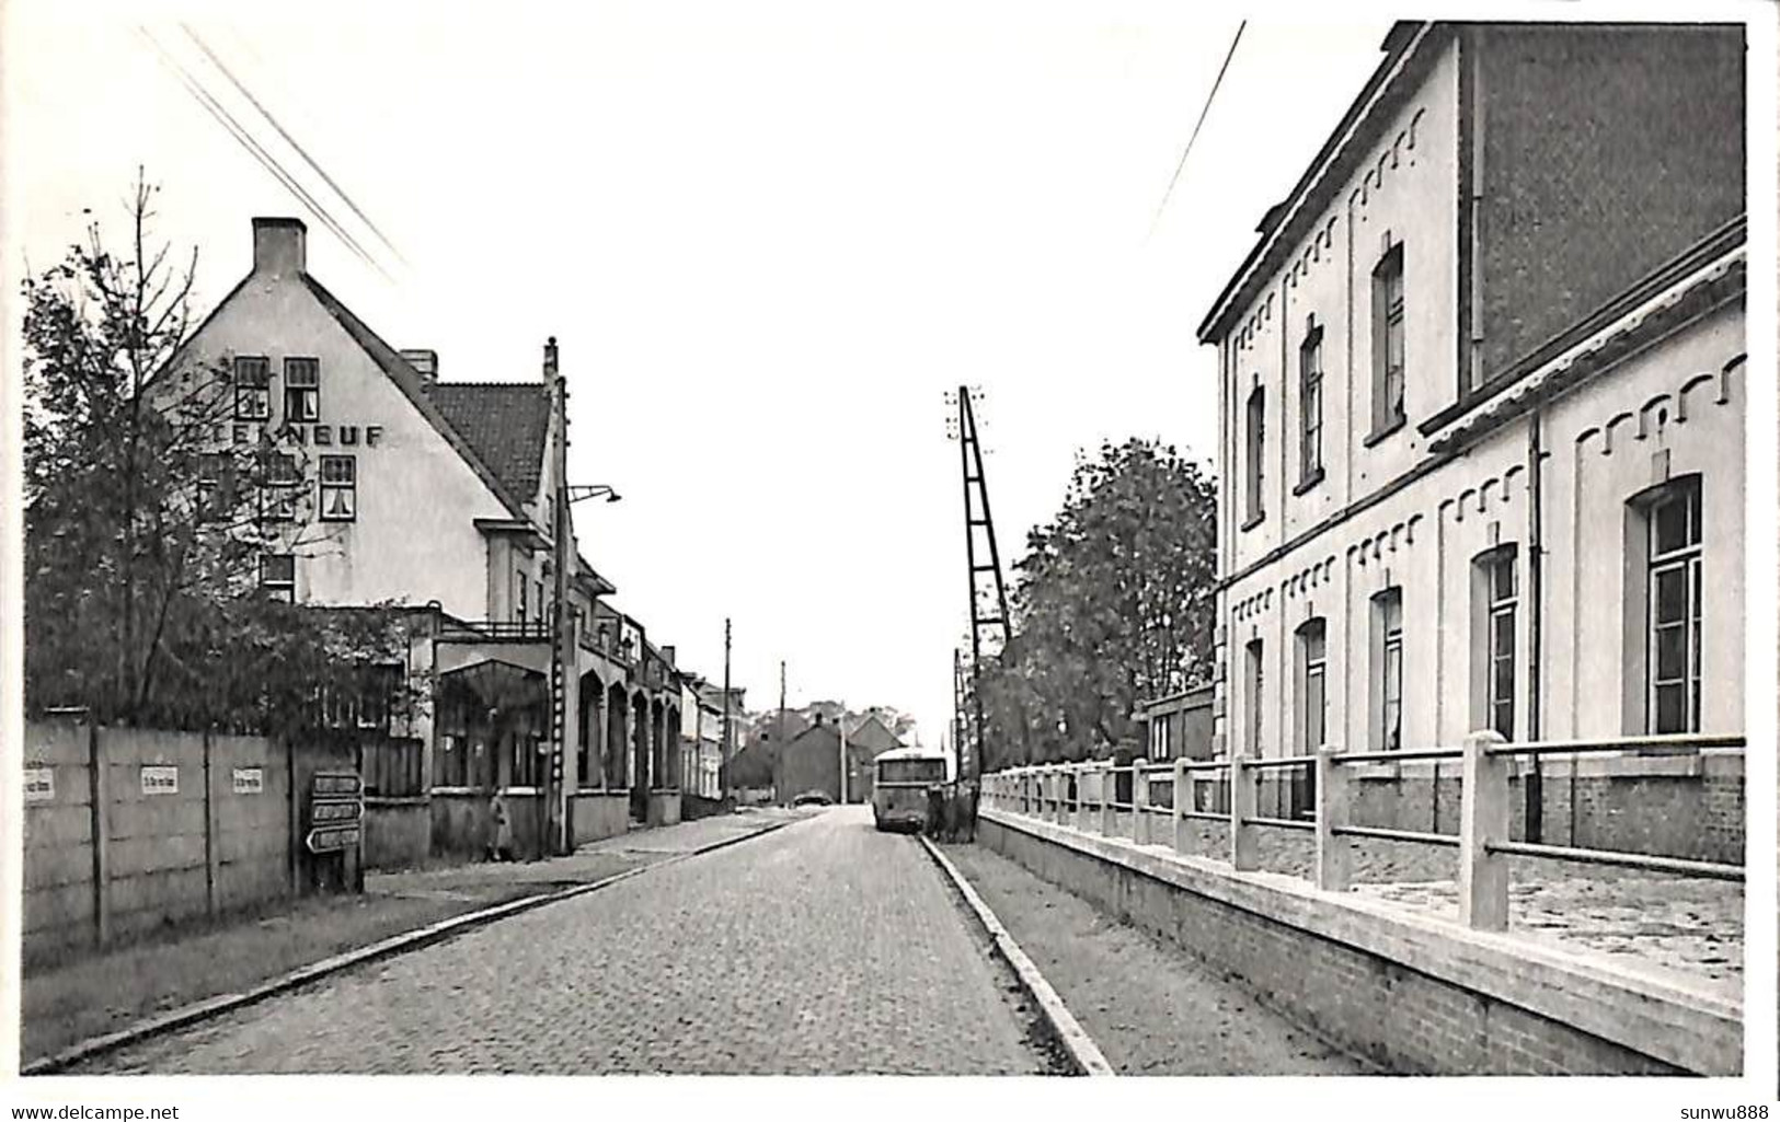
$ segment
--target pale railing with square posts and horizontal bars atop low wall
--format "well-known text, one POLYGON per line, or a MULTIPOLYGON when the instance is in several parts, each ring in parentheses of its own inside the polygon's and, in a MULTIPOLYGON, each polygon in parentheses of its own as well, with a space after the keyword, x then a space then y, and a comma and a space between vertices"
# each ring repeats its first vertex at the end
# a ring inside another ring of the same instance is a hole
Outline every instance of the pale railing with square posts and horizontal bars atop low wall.
POLYGON ((1355 839, 1456 848, 1460 923, 1499 932, 1508 928, 1509 857, 1606 864, 1709 880, 1744 880, 1741 864, 1513 841, 1509 777, 1517 757, 1577 757, 1602 752, 1650 757, 1741 754, 1746 745, 1744 736, 1622 736, 1509 743, 1495 733, 1472 733, 1463 747, 1394 752, 1340 752, 1333 745, 1324 745, 1314 756, 1022 766, 984 775, 983 798, 1002 811, 1086 832, 1105 836, 1129 832, 1137 845, 1171 841, 1177 852, 1185 852, 1185 823, 1223 823, 1230 834, 1230 864, 1235 871, 1260 868, 1258 829, 1310 832, 1315 837, 1312 880, 1319 889, 1331 893, 1353 887, 1355 839), (1438 775, 1438 763, 1452 759, 1461 765, 1458 775, 1452 775, 1460 784, 1458 832, 1399 830, 1351 821, 1353 768, 1433 761, 1438 775), (1257 805, 1255 779, 1278 772, 1292 772, 1283 782, 1290 784, 1294 809, 1287 811, 1287 816, 1262 814, 1257 805), (1157 788, 1168 793, 1166 804, 1153 800, 1157 788), (1200 795, 1209 795, 1221 805, 1202 809, 1200 795), (1308 805, 1298 805, 1299 795, 1307 797, 1308 805), (1129 821, 1129 830, 1121 825, 1121 818, 1129 821))

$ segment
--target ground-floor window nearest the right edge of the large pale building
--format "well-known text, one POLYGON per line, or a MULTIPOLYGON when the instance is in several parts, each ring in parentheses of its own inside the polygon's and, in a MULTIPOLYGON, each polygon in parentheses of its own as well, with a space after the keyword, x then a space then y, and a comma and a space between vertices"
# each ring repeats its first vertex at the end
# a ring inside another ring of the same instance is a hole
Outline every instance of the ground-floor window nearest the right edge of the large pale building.
POLYGON ((1648 523, 1648 727, 1652 733, 1700 731, 1700 477, 1663 487, 1646 509, 1648 523))

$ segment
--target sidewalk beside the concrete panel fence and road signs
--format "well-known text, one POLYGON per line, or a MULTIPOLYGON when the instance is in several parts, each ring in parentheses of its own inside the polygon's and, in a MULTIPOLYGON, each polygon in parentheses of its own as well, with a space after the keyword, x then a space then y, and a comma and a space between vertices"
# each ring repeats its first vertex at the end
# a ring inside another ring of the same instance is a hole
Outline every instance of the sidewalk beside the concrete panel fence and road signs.
POLYGON ((312 896, 276 914, 27 971, 20 1062, 452 916, 591 884, 805 816, 746 809, 619 834, 550 861, 367 873, 363 896, 312 896))

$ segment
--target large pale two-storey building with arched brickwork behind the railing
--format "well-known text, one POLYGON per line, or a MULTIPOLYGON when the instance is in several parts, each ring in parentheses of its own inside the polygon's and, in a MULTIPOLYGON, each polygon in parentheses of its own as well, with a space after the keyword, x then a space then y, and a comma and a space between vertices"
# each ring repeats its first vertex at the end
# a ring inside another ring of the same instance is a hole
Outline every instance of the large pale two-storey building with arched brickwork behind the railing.
POLYGON ((1741 733, 1743 137, 1741 28, 1392 28, 1200 325, 1216 754, 1741 733))

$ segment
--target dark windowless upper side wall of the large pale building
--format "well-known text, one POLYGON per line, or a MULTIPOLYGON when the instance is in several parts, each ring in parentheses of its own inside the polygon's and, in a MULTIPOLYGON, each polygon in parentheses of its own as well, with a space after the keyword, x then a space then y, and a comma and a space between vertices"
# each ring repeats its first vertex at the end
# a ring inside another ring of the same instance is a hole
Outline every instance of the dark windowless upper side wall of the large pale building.
POLYGON ((1744 36, 1680 25, 1470 34, 1481 349, 1495 373, 1743 212, 1744 36))

